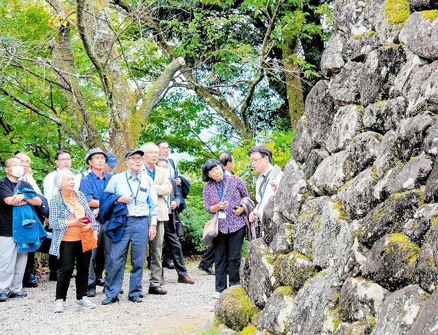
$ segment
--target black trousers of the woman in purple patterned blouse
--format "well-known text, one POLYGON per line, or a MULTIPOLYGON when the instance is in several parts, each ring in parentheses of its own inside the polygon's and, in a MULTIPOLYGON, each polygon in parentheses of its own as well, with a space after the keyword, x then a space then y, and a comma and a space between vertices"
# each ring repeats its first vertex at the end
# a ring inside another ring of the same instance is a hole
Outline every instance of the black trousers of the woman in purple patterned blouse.
POLYGON ((242 245, 246 226, 228 234, 218 233, 214 239, 215 271, 216 271, 216 292, 227 289, 227 270, 229 286, 240 284, 240 262, 242 261, 242 245), (227 265, 228 264, 228 265, 227 265), (227 269, 228 268, 228 269, 227 269))

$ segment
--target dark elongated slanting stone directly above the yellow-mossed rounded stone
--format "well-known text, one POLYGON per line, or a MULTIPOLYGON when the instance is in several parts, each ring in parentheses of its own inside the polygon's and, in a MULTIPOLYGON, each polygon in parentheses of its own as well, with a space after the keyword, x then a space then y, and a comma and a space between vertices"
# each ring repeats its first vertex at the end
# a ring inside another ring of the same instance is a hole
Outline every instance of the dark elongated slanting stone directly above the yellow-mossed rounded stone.
POLYGON ((359 242, 372 247, 375 241, 391 232, 402 232, 422 202, 422 192, 414 189, 397 193, 378 204, 363 218, 358 231, 359 242))

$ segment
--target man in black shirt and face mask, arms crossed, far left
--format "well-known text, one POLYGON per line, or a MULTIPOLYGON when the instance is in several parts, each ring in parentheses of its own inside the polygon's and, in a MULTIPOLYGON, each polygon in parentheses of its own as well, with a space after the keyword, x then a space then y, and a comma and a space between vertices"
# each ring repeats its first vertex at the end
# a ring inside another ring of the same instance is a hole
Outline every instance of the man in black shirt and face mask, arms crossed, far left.
POLYGON ((25 297, 27 293, 21 292, 23 288, 23 275, 27 262, 27 252, 18 253, 18 247, 12 237, 12 222, 14 206, 31 204, 40 206, 40 198, 25 199, 17 191, 32 186, 18 179, 24 174, 21 160, 12 157, 5 161, 6 176, 0 178, 0 302, 8 298, 25 297))

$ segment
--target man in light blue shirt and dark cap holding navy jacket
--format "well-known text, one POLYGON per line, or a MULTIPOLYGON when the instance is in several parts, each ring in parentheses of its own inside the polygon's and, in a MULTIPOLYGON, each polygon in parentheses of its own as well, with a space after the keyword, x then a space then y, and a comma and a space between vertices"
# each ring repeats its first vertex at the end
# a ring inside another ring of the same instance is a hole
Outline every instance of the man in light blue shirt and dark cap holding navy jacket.
MULTIPOLYGON (((105 280, 105 295, 102 304, 118 302, 118 293, 122 288, 123 275, 129 244, 131 244, 131 277, 129 278, 128 299, 131 302, 142 302, 142 277, 146 245, 149 239, 157 235, 157 191, 150 176, 141 173, 143 167, 142 150, 129 150, 125 155, 127 170, 113 176, 105 189, 104 202, 106 211, 114 217, 118 211, 116 206, 123 204, 125 217, 123 225, 114 232, 110 243, 111 257, 105 280), (107 196, 109 195, 109 196, 107 196), (107 210, 106 207, 109 209, 107 210), (115 238, 116 237, 116 238, 115 238)), ((118 206, 120 207, 120 206, 118 206)), ((102 212, 104 212, 102 210, 102 212)), ((110 230, 110 228, 108 228, 110 230)), ((109 231, 108 231, 109 232, 109 231)), ((107 232, 107 233, 108 233, 107 232)))

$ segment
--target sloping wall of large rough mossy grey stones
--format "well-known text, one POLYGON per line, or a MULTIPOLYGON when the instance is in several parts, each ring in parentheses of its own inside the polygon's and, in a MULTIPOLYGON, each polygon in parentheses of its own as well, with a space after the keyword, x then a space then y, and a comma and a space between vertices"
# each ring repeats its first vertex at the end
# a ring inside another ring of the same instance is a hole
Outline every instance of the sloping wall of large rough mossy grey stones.
POLYGON ((438 334, 438 1, 336 0, 334 22, 242 264, 254 310, 216 314, 246 333, 438 334))

